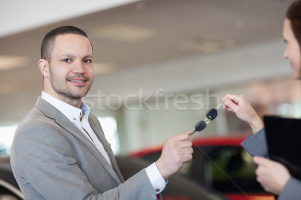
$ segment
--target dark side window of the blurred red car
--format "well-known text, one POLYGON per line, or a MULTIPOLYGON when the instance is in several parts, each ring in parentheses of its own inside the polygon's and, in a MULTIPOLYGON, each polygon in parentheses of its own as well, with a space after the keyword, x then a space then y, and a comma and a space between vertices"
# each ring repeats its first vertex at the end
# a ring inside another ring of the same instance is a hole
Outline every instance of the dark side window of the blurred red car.
MULTIPOLYGON (((161 152, 143 156, 156 161, 161 152)), ((256 165, 252 157, 239 146, 195 147, 193 159, 179 173, 222 192, 264 192, 256 181, 256 165)))

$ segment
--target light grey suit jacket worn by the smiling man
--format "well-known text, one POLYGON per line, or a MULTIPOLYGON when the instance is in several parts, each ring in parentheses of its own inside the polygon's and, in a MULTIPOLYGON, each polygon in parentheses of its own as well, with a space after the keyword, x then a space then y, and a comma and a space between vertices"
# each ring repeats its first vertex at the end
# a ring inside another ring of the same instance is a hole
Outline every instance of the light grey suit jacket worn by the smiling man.
POLYGON ((27 199, 157 199, 142 169, 124 182, 97 118, 89 123, 108 149, 112 167, 96 146, 42 98, 18 126, 11 164, 27 199))

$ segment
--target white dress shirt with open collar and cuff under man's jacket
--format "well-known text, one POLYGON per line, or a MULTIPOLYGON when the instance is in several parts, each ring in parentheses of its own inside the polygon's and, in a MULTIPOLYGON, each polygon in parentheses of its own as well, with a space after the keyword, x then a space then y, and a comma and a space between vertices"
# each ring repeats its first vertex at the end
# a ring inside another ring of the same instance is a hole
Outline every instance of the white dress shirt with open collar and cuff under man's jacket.
MULTIPOLYGON (((106 149, 104 148, 104 145, 100 142, 100 140, 98 139, 98 137, 96 136, 95 132, 93 131, 93 129, 89 124, 88 116, 89 116, 90 108, 87 106, 87 104, 81 102, 80 108, 77 108, 62 100, 53 97, 52 95, 46 93, 45 91, 42 91, 41 98, 43 98, 44 100, 52 104, 54 107, 56 107, 58 110, 60 110, 77 128, 79 128, 81 132, 84 135, 86 135, 86 137, 91 142, 94 143, 97 149, 101 152, 101 154, 105 157, 108 163, 112 166, 111 160, 106 152, 106 149), (85 130, 89 133, 90 136, 86 133, 85 130)), ((162 190, 165 188, 166 183, 168 181, 164 180, 160 171, 158 170, 156 163, 154 162, 153 164, 146 167, 145 171, 150 180, 150 183, 152 183, 155 193, 159 194, 160 192, 162 192, 162 190)))

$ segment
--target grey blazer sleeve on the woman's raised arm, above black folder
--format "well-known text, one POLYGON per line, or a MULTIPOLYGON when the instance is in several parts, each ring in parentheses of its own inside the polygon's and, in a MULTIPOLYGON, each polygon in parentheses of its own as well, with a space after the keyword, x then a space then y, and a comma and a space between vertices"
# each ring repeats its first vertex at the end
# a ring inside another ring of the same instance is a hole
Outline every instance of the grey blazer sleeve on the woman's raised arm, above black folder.
POLYGON ((262 128, 258 132, 251 133, 242 142, 241 146, 253 157, 255 155, 268 157, 268 148, 265 136, 265 129, 262 128))

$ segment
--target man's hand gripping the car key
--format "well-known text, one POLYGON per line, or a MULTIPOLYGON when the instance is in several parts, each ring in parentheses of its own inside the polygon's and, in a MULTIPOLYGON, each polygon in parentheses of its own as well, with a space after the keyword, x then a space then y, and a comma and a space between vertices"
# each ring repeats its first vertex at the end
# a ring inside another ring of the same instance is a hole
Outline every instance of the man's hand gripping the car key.
POLYGON ((192 153, 192 137, 189 132, 168 138, 164 143, 160 158, 156 161, 163 178, 166 180, 169 176, 177 173, 184 162, 192 159, 192 153))

